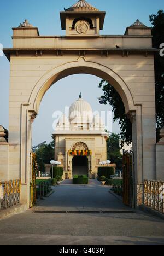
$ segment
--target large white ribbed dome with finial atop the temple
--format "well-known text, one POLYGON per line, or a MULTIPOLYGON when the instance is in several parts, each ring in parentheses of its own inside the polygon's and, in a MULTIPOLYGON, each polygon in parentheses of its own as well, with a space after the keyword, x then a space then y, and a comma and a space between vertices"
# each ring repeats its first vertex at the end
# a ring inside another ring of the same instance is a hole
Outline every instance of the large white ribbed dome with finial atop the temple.
POLYGON ((69 108, 69 121, 71 123, 91 123, 93 111, 90 104, 83 100, 81 93, 77 101, 69 108))

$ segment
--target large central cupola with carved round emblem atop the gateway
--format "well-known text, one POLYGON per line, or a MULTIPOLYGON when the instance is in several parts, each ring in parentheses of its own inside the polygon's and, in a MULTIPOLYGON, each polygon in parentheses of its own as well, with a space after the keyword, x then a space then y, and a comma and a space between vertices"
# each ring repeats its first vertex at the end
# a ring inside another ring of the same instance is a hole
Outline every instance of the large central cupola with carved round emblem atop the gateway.
POLYGON ((69 37, 97 37, 99 30, 103 30, 105 15, 105 11, 79 0, 60 13, 62 30, 66 30, 69 37))

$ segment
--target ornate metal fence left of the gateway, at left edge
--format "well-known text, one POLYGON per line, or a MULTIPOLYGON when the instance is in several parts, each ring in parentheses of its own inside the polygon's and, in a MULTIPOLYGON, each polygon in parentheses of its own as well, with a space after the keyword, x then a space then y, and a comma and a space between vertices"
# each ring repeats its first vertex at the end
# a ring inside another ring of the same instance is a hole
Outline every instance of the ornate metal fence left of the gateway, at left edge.
POLYGON ((20 202, 20 180, 0 181, 0 210, 20 202))

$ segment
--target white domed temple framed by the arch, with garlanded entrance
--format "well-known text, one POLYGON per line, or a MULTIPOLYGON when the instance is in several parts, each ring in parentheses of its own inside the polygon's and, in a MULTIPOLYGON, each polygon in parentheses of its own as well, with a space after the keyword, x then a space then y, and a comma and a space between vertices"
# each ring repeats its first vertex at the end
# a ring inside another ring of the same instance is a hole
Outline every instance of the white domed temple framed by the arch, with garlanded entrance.
POLYGON ((55 160, 65 170, 65 178, 89 175, 95 178, 99 162, 107 157, 108 133, 101 117, 93 115, 88 102, 81 93, 69 108, 69 117, 62 115, 53 133, 55 160))

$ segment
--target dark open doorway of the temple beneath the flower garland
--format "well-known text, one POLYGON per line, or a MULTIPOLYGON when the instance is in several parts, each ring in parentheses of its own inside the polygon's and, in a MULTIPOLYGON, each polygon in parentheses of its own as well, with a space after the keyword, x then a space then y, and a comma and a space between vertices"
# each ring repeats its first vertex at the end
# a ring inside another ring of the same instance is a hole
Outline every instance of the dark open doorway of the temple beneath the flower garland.
POLYGON ((72 174, 88 175, 88 158, 87 156, 74 156, 72 159, 72 174))

